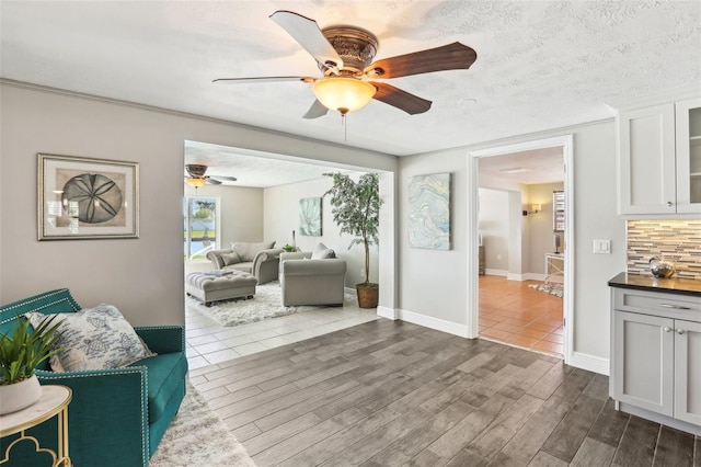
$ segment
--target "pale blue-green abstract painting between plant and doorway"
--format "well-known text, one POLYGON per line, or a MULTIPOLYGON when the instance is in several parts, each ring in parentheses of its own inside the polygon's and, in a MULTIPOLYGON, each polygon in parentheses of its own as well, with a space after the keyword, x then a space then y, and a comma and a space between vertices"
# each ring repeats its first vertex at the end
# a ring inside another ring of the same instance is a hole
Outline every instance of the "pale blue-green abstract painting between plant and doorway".
POLYGON ((409 244, 450 250, 450 173, 409 179, 409 244))

